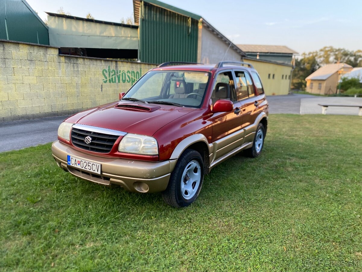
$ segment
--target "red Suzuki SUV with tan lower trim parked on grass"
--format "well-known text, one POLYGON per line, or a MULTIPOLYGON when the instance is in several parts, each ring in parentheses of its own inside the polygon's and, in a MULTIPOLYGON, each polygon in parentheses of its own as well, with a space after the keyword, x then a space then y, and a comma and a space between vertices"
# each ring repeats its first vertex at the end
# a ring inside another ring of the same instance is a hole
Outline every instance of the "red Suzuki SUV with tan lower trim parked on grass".
POLYGON ((242 150, 259 156, 267 125, 268 102, 251 64, 168 62, 119 101, 64 120, 52 153, 77 177, 162 192, 166 203, 183 207, 214 166, 242 150))

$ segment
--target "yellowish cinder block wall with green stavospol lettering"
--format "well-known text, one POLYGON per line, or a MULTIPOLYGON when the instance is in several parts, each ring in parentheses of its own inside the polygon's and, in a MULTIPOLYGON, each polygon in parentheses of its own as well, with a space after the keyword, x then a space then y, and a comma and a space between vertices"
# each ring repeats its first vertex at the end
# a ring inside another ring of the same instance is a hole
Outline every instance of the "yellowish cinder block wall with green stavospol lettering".
POLYGON ((118 100, 155 65, 58 54, 0 41, 0 121, 70 115, 118 100))

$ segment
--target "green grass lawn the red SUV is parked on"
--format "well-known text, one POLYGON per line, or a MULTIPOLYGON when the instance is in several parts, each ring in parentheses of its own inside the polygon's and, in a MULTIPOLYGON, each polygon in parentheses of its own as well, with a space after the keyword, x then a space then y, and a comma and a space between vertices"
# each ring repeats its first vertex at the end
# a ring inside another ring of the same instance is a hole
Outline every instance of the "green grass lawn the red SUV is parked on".
POLYGON ((362 118, 271 115, 185 209, 0 153, 1 271, 362 271, 362 118))

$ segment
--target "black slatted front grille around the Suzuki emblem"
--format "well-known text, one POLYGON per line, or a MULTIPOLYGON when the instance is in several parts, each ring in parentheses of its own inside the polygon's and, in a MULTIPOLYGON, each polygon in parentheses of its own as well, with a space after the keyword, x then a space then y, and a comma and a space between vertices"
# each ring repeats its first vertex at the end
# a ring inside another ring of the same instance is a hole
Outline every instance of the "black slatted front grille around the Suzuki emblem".
POLYGON ((79 128, 72 128, 72 143, 76 147, 98 153, 109 153, 119 136, 109 135, 79 128), (85 143, 85 137, 90 136, 92 141, 85 143))

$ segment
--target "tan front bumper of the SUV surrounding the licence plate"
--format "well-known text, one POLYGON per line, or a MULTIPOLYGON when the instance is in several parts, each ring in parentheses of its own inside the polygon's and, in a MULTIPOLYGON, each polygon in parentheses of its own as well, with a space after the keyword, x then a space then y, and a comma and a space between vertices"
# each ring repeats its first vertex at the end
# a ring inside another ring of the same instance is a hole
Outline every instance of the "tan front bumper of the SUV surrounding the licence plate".
POLYGON ((58 166, 69 171, 74 176, 106 186, 117 184, 126 190, 139 193, 164 191, 177 162, 177 160, 151 162, 98 157, 76 151, 59 141, 55 141, 52 144, 51 150, 58 166), (101 174, 68 165, 68 155, 100 163, 101 174))

